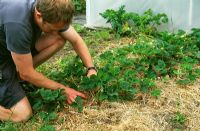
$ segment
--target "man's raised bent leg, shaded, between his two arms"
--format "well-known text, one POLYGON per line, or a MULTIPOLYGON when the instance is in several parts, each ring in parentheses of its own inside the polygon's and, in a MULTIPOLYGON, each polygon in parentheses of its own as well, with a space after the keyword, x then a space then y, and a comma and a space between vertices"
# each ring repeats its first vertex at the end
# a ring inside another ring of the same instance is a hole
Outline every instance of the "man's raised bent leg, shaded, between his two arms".
POLYGON ((57 32, 43 34, 35 45, 39 53, 33 56, 34 67, 36 68, 53 56, 64 44, 65 40, 57 32))

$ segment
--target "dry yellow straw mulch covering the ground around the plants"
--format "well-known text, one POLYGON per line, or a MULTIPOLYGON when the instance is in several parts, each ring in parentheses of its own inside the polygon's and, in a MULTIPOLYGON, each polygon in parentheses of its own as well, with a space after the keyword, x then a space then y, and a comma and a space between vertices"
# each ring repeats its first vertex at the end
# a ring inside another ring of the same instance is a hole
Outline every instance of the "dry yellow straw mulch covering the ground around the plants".
MULTIPOLYGON (((109 50, 118 43, 134 42, 122 38, 111 40, 104 48, 96 46, 96 52, 109 50), (112 43, 112 44, 111 44, 112 43)), ((93 47, 90 45, 89 47, 93 47)), ((94 48, 92 48, 94 49, 94 48)), ((139 94, 130 102, 103 102, 100 106, 88 102, 83 113, 72 108, 60 113, 65 122, 56 125, 57 130, 91 130, 91 131, 172 131, 200 130, 200 80, 188 86, 177 85, 174 80, 167 82, 157 80, 161 96, 156 99, 139 94), (172 122, 171 118, 181 112, 187 118, 184 125, 172 122)))

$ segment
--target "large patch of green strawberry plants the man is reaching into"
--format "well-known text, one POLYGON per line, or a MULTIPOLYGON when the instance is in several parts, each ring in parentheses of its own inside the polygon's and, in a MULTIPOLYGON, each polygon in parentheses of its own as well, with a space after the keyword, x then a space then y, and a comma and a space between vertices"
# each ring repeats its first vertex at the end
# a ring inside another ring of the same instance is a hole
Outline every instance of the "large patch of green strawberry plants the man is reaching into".
MULTIPOLYGON (((142 33, 134 45, 102 53, 98 58, 97 76, 85 76, 86 70, 79 57, 63 59, 60 71, 49 76, 67 78, 57 80, 90 93, 98 102, 132 100, 138 92, 158 98, 161 90, 154 82, 158 77, 176 77, 179 84, 191 83, 199 77, 200 71, 195 68, 199 62, 195 55, 199 52, 198 41, 192 33, 182 30, 157 32, 153 36, 142 33)), ((81 102, 76 102, 74 107, 81 111, 81 102)))

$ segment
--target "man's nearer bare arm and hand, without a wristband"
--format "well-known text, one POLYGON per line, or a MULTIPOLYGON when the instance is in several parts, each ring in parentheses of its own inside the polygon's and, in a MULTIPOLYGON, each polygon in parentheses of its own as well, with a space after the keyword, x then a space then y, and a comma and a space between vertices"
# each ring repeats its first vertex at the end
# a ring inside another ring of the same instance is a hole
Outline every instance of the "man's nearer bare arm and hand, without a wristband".
POLYGON ((84 94, 78 91, 75 91, 74 89, 71 89, 67 86, 64 86, 56 81, 50 80, 44 75, 42 75, 41 73, 37 72, 33 68, 32 56, 30 53, 16 54, 12 52, 11 55, 16 65, 16 68, 19 72, 19 75, 23 80, 26 80, 38 87, 44 87, 44 88, 48 88, 52 90, 64 89, 67 95, 67 98, 68 98, 67 101, 69 104, 74 102, 77 96, 86 98, 84 94))

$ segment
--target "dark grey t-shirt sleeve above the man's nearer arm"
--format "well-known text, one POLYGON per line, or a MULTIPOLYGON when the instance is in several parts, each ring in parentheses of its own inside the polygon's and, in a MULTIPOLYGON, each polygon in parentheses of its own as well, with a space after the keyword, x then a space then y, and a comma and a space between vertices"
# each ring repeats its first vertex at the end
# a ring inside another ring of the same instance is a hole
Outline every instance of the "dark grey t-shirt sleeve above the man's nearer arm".
POLYGON ((19 23, 6 23, 4 25, 7 48, 17 54, 28 54, 31 52, 31 30, 19 23))

